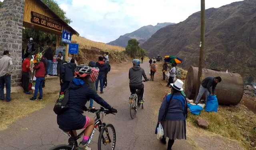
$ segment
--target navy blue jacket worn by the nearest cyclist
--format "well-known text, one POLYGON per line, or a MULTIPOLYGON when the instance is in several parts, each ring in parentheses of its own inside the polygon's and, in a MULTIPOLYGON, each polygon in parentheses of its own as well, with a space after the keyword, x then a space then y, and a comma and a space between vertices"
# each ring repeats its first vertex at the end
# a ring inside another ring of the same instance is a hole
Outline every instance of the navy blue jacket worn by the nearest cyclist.
POLYGON ((65 112, 57 115, 57 123, 62 130, 78 130, 84 127, 86 119, 82 114, 87 101, 93 99, 105 109, 110 105, 93 91, 84 81, 74 78, 70 83, 68 107, 65 112))

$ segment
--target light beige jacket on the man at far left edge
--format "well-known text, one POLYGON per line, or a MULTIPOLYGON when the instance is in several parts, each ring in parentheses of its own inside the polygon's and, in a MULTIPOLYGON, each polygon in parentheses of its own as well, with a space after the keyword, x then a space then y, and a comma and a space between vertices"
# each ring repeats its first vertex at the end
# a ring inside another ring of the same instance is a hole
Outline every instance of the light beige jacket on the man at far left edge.
POLYGON ((4 55, 0 59, 0 77, 12 73, 12 58, 4 55))

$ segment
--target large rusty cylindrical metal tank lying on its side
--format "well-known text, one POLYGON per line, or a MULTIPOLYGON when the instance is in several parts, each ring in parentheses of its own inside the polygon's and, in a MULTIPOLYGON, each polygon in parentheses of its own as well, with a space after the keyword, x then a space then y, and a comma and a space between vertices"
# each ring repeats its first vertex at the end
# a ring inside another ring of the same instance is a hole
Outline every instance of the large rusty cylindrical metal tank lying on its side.
MULTIPOLYGON (((188 99, 195 99, 196 84, 197 84, 198 67, 190 67, 185 83, 185 93, 188 99)), ((226 73, 221 71, 213 71, 203 69, 202 80, 209 76, 220 76, 222 81, 215 88, 215 94, 218 98, 218 103, 222 105, 237 105, 244 93, 244 82, 242 76, 238 73, 226 73)), ((201 99, 205 99, 205 96, 201 99)))

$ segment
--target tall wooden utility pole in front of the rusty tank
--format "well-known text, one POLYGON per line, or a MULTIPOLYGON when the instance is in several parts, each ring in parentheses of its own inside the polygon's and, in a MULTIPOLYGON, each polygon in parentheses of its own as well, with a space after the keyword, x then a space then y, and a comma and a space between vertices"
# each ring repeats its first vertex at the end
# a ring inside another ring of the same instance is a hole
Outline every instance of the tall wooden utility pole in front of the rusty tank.
POLYGON ((199 56, 199 66, 198 66, 198 76, 197 76, 197 88, 196 88, 196 96, 198 95, 199 88, 201 85, 201 77, 202 77, 202 66, 204 63, 204 18, 205 18, 205 0, 201 0, 201 38, 200 38, 200 56, 199 56))

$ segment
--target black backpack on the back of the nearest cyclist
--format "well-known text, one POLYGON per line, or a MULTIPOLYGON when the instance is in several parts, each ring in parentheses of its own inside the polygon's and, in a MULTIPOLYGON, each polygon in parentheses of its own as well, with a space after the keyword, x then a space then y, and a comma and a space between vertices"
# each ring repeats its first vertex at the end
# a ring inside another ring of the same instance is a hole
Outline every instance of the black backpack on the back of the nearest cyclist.
POLYGON ((69 99, 69 87, 61 93, 60 97, 57 99, 53 111, 55 114, 62 114, 69 107, 67 105, 69 99))

